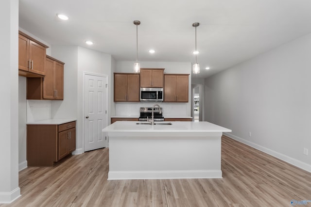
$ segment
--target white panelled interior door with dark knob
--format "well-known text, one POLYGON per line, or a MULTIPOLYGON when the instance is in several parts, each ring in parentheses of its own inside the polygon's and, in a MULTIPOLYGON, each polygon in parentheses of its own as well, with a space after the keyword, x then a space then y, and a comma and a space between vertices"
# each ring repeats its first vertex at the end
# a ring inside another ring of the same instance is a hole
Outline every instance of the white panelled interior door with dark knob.
POLYGON ((85 74, 84 151, 105 147, 102 129, 107 126, 107 80, 85 74))

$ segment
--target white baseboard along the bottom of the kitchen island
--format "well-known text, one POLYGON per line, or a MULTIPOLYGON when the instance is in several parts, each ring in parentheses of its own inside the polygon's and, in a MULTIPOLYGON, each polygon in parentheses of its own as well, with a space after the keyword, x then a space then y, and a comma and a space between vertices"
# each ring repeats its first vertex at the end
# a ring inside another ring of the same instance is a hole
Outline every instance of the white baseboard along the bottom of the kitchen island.
POLYGON ((221 170, 109 171, 108 180, 223 178, 221 170))

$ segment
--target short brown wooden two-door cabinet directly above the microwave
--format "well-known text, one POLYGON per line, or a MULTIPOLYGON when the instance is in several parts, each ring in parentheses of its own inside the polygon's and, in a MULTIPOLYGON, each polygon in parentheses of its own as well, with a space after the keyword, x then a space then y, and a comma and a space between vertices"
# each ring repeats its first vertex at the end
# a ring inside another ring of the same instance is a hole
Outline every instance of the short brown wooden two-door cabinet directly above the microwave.
POLYGON ((164 68, 140 68, 140 87, 142 88, 163 88, 164 68))

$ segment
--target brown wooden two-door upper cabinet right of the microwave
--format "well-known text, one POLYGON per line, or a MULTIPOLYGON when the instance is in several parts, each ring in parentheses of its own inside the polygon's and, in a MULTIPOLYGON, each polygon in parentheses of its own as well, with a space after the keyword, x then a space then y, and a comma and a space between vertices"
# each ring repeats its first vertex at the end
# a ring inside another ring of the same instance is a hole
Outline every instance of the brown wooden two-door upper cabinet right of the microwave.
POLYGON ((188 102, 189 74, 164 75, 164 101, 188 102))

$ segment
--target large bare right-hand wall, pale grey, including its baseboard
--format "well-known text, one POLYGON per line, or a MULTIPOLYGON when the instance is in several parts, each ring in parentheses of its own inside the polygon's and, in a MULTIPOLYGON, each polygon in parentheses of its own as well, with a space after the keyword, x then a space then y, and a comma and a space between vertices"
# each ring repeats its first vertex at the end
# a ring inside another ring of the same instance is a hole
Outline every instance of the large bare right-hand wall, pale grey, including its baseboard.
POLYGON ((207 78, 206 120, 311 171, 310 57, 311 34, 207 78))

